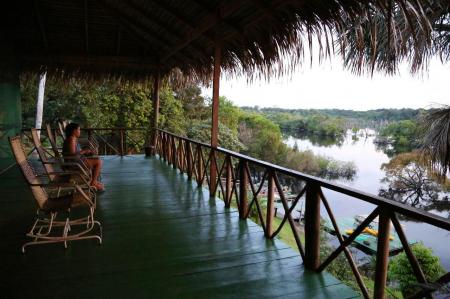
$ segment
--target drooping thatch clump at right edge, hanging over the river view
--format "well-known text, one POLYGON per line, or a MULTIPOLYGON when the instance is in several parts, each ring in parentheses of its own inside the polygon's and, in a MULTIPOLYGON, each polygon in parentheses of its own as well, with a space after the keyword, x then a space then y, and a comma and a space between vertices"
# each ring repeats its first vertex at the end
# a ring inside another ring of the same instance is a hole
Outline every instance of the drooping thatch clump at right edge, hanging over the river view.
POLYGON ((443 177, 450 170, 450 106, 432 109, 422 119, 422 152, 443 177))

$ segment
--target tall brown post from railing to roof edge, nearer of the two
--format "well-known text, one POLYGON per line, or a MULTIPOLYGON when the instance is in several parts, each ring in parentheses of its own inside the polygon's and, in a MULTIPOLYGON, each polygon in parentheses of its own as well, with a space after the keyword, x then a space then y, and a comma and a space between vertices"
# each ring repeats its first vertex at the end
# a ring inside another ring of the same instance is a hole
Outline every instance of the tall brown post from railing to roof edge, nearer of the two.
POLYGON ((213 98, 212 98, 212 124, 211 124, 211 163, 210 163, 210 195, 215 196, 217 189, 217 167, 215 163, 215 151, 219 140, 219 83, 220 63, 222 59, 222 43, 219 32, 216 32, 214 47, 214 76, 213 76, 213 98))

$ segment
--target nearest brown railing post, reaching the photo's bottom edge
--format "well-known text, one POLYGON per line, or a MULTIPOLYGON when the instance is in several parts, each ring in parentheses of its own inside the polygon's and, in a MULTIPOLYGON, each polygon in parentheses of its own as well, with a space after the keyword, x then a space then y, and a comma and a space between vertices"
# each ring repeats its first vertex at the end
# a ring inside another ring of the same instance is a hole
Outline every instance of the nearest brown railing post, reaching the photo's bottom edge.
POLYGON ((384 298, 387 270, 389 263, 389 234, 391 220, 389 211, 382 208, 378 220, 378 243, 377 243, 377 261, 375 265, 375 287, 374 299, 384 298))

